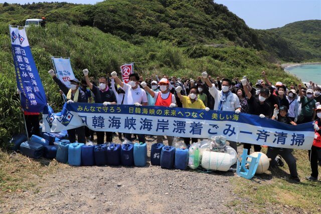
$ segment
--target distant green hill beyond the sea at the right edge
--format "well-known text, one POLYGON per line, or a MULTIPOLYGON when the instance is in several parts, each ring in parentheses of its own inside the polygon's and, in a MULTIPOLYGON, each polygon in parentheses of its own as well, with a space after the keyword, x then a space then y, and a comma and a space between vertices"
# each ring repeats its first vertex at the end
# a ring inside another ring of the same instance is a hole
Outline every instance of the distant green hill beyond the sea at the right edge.
POLYGON ((309 53, 310 58, 321 58, 321 20, 294 22, 282 28, 268 30, 309 53))

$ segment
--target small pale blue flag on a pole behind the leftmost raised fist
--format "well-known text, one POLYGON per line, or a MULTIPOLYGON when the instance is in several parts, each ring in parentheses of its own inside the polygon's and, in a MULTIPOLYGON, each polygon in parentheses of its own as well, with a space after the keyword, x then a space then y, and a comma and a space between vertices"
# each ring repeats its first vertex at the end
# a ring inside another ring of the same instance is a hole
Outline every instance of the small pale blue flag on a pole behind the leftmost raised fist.
POLYGON ((70 88, 70 80, 75 79, 74 72, 72 71, 70 59, 62 57, 52 57, 58 79, 70 88))

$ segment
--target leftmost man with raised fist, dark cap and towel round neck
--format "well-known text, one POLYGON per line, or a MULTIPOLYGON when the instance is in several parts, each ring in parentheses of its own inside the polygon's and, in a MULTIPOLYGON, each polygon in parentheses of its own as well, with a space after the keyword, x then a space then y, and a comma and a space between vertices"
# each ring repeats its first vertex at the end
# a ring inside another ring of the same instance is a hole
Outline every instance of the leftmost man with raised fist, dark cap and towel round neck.
MULTIPOLYGON (((54 70, 48 71, 53 80, 58 84, 60 90, 66 95, 67 103, 87 103, 85 93, 79 87, 79 81, 77 79, 70 80, 70 88, 62 83, 55 74, 54 70)), ((86 143, 85 127, 81 126, 75 129, 67 130, 69 141, 71 143, 76 142, 76 134, 78 136, 79 143, 86 143)))

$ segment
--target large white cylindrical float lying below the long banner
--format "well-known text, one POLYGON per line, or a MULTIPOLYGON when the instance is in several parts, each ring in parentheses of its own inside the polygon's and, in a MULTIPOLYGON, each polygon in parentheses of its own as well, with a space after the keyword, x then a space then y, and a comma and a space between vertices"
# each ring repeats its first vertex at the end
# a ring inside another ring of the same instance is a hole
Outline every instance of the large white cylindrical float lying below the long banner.
POLYGON ((227 171, 233 164, 231 155, 228 153, 204 151, 201 165, 205 169, 227 171))

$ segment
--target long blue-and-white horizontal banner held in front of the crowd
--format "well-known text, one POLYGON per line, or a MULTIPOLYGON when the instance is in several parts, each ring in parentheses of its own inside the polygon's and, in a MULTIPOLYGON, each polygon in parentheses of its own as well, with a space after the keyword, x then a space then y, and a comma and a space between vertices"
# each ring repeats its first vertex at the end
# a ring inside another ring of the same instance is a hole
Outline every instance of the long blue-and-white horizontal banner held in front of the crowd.
POLYGON ((65 104, 54 113, 48 106, 43 130, 60 132, 80 126, 95 131, 209 138, 224 135, 227 140, 282 148, 310 149, 312 123, 287 125, 250 114, 156 106, 65 104))

